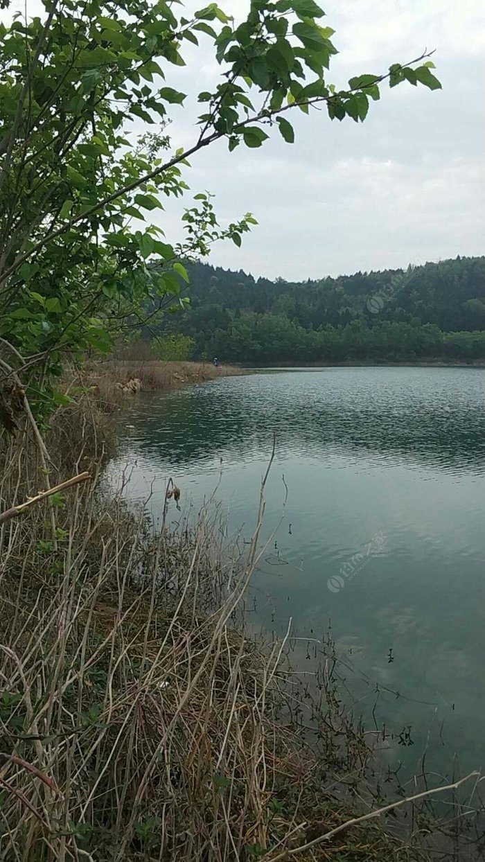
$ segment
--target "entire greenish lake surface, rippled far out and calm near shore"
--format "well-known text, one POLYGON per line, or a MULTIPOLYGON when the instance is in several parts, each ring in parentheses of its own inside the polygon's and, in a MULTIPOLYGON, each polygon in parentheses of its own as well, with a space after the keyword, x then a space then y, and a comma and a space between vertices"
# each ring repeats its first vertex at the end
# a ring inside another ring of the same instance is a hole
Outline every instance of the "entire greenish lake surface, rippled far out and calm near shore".
POLYGON ((284 634, 291 616, 306 671, 306 639, 331 625, 356 714, 395 733, 393 767, 419 769, 426 746, 428 769, 455 752, 461 771, 485 767, 484 384, 475 368, 325 368, 141 394, 109 467, 155 513, 170 476, 183 508, 218 485, 250 536, 276 433, 266 535, 289 496, 253 619, 284 634))

